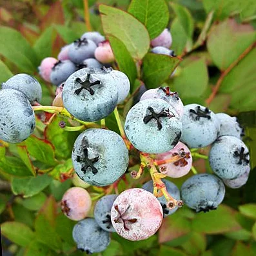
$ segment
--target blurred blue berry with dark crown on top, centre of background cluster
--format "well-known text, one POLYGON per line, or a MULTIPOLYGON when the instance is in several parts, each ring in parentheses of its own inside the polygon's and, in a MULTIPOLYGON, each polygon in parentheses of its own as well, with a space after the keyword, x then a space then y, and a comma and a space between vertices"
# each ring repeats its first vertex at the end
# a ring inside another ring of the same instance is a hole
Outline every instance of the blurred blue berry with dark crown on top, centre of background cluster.
POLYGON ((81 63, 84 59, 94 57, 97 45, 92 40, 77 39, 68 48, 68 57, 74 63, 81 63))

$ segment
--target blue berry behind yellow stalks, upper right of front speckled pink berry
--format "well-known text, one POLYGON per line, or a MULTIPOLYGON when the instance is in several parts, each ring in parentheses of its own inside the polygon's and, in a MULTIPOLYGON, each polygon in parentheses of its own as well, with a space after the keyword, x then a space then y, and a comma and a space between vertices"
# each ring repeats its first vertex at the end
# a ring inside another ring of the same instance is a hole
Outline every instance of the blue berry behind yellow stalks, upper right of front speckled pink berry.
MULTIPOLYGON (((179 188, 173 183, 168 181, 167 179, 162 179, 162 182, 164 182, 164 185, 166 186, 167 192, 172 195, 172 197, 176 200, 181 199, 181 193, 179 192, 179 188)), ((143 185, 143 189, 153 193, 153 181, 148 181, 143 185)), ((161 203, 162 206, 162 212, 164 213, 164 217, 167 217, 168 215, 171 215, 172 213, 175 213, 178 208, 177 206, 173 208, 173 210, 169 210, 166 206, 166 199, 164 195, 161 197, 157 197, 157 200, 161 203)))

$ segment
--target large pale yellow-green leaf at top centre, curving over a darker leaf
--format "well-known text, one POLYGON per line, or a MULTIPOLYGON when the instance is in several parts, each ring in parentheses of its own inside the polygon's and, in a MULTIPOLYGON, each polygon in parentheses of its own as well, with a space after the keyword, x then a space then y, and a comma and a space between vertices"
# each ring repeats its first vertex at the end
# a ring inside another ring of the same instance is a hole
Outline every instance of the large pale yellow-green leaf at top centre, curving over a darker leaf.
POLYGON ((105 34, 119 39, 132 55, 140 60, 150 48, 148 31, 135 17, 106 5, 100 5, 101 21, 105 34))

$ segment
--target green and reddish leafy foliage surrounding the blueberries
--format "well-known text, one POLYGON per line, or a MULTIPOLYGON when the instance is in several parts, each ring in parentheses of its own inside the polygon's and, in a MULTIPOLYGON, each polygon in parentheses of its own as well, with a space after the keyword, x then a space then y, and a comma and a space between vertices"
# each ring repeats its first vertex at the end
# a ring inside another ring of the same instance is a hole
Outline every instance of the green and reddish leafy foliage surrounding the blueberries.
MULTIPOLYGON (((1 3, 0 83, 20 72, 35 75, 43 87, 42 104, 51 104, 55 88, 39 77, 37 66, 87 30, 83 1, 1 3)), ((195 214, 184 206, 164 219, 158 234, 146 241, 130 242, 113 234, 101 255, 256 255, 255 1, 90 0, 89 5, 92 29, 104 31, 110 40, 117 65, 132 84, 131 94, 138 90, 139 80, 147 88, 168 84, 185 104, 237 115, 246 128, 252 169, 246 186, 227 188, 217 210, 195 214), (148 53, 150 39, 166 27, 172 32, 176 58, 148 53)), ((123 119, 131 104, 132 99, 121 106, 123 119)), ((63 193, 72 186, 70 153, 78 135, 61 130, 58 123, 63 120, 46 115, 45 123, 38 119, 34 135, 25 142, 0 144, 0 220, 2 235, 8 239, 2 243, 16 256, 83 255, 72 239, 75 222, 59 208, 63 193)), ((118 132, 113 115, 106 124, 118 132)), ((209 168, 204 160, 195 161, 195 166, 199 172, 209 168)), ((181 186, 187 178, 175 183, 181 186)), ((119 192, 148 179, 144 175, 143 181, 133 181, 126 175, 127 183, 119 183, 119 192)), ((104 192, 96 187, 88 190, 94 198, 104 192)))

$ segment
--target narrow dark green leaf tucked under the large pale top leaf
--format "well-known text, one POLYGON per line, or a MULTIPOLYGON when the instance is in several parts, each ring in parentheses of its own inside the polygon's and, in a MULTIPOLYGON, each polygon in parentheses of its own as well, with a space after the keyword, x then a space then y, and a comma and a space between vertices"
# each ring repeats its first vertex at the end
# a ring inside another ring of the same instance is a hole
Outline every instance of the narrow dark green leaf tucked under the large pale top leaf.
POLYGON ((115 55, 115 61, 117 62, 121 72, 124 72, 129 78, 130 84, 133 84, 137 77, 137 68, 128 52, 126 46, 116 37, 109 36, 113 55, 115 55))

